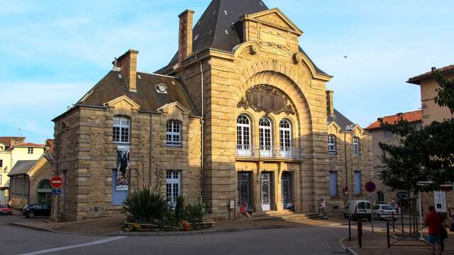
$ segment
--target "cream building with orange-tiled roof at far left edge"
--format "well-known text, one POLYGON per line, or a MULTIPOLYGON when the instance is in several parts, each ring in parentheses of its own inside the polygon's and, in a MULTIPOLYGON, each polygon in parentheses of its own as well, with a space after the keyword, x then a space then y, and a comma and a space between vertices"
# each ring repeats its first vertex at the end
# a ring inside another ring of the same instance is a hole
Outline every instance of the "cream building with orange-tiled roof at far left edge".
POLYGON ((9 171, 19 160, 36 160, 45 152, 44 145, 24 142, 26 137, 0 137, 0 203, 9 200, 9 171))

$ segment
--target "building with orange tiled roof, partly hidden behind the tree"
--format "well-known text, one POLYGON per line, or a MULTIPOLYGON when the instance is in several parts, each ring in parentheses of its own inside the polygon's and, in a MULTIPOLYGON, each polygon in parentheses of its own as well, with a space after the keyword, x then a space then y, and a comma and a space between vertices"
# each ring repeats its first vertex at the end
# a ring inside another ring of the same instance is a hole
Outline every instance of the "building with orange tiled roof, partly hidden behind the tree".
MULTIPOLYGON (((402 118, 408 121, 415 128, 419 128, 422 125, 423 111, 419 110, 403 113, 402 118)), ((397 115, 384 116, 383 121, 384 123, 394 124, 399 121, 399 117, 397 115)), ((380 180, 380 171, 382 171, 383 166, 380 157, 382 157, 383 152, 378 144, 382 142, 389 145, 397 145, 399 143, 399 137, 392 134, 390 131, 383 130, 378 120, 375 120, 375 122, 370 124, 367 128, 365 128, 365 130, 373 135, 372 148, 374 152, 374 179, 375 185, 377 186, 375 200, 377 203, 389 203, 393 199, 406 200, 406 198, 408 198, 406 191, 392 191, 391 188, 385 186, 380 180)))

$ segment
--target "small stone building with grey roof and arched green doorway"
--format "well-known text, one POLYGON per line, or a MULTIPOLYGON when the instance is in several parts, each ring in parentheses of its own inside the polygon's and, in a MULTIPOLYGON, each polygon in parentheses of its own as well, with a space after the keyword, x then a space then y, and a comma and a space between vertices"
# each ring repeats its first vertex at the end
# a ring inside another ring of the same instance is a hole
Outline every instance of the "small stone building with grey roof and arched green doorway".
POLYGON ((10 200, 13 202, 13 208, 18 208, 21 204, 50 205, 52 162, 52 154, 46 152, 39 159, 19 160, 13 166, 9 173, 10 200))

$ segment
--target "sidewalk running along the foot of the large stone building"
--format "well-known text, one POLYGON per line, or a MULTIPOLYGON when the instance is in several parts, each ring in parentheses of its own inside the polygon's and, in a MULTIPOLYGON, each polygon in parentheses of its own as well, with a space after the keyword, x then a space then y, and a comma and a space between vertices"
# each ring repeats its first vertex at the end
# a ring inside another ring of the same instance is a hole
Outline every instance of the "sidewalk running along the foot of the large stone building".
POLYGON ((12 225, 21 227, 31 227, 34 229, 71 233, 71 234, 89 234, 89 235, 173 235, 173 234, 201 234, 206 232, 234 232, 252 229, 277 229, 277 228, 294 228, 310 226, 328 226, 341 225, 342 219, 334 217, 331 220, 310 220, 305 218, 285 217, 256 217, 255 219, 240 218, 239 220, 223 220, 215 222, 211 229, 202 229, 191 232, 123 232, 123 222, 126 217, 104 217, 93 220, 81 220, 78 222, 57 222, 54 223, 47 218, 42 220, 24 219, 21 222, 13 222, 12 225))

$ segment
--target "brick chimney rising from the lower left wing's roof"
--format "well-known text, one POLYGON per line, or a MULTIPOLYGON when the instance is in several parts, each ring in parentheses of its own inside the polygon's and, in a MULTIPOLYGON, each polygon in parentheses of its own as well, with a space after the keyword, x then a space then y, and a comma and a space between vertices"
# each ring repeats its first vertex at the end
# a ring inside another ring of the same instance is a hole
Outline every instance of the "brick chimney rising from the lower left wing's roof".
POLYGON ((137 50, 128 50, 114 61, 114 68, 120 67, 128 79, 129 91, 137 92, 137 50))

